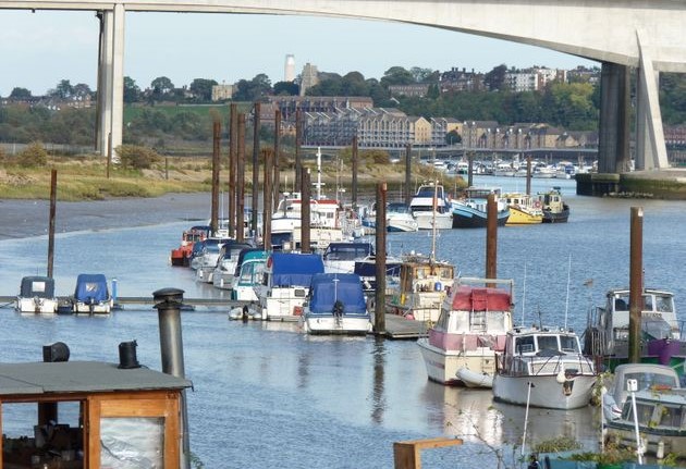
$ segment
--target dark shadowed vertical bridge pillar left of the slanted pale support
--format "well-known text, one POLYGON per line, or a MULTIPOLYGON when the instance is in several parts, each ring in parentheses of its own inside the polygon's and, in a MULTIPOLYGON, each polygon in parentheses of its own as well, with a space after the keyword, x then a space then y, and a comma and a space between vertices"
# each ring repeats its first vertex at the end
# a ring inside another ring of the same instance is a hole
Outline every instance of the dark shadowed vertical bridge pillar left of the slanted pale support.
POLYGON ((629 158, 629 74, 626 65, 603 62, 600 75, 598 172, 624 173, 629 158))

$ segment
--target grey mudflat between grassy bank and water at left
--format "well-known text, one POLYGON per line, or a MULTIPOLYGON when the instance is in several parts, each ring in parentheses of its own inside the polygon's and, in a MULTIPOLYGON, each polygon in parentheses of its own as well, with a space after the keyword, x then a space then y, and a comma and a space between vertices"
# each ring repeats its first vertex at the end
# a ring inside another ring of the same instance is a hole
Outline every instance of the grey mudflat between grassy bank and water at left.
MULTIPOLYGON (((209 193, 166 194, 151 198, 117 198, 56 205, 54 232, 107 230, 187 220, 205 223, 210 218, 209 193)), ((0 199, 0 239, 47 235, 49 200, 0 199)))

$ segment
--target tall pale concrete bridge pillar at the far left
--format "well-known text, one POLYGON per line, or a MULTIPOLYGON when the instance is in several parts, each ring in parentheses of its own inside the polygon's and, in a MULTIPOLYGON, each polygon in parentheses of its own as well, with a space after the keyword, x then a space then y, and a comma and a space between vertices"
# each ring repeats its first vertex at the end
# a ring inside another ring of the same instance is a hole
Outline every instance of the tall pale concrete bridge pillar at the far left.
MULTIPOLYGON (((102 156, 122 144, 124 120, 124 15, 122 4, 100 20, 96 149, 102 156)), ((112 152, 115 156, 114 152, 112 152)))

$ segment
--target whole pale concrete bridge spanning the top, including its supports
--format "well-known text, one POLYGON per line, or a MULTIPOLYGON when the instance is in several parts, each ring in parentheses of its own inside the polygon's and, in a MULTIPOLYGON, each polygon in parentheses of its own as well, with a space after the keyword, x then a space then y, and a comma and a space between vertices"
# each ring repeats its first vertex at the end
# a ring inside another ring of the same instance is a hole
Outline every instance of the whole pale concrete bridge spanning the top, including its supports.
MULTIPOLYGON (((681 0, 9 0, 0 9, 90 10, 100 20, 98 149, 121 145, 126 12, 313 15, 411 23, 488 36, 602 63, 599 171, 629 157, 629 69, 637 72, 636 168, 669 166, 658 102, 660 72, 686 72, 681 0)), ((1 14, 1 12, 0 12, 1 14)))

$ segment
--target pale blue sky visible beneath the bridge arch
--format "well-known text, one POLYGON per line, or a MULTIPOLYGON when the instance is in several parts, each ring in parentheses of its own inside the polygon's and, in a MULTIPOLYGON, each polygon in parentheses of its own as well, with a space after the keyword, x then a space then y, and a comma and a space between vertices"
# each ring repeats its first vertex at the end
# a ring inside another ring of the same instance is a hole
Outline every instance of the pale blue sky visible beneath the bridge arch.
MULTIPOLYGON (((39 96, 62 79, 96 88, 98 20, 94 12, 0 10, 0 96, 14 87, 39 96)), ((284 79, 286 54, 296 74, 360 72, 381 78, 392 66, 489 72, 595 66, 547 49, 426 26, 313 16, 128 12, 124 75, 142 89, 160 76, 174 86, 194 78, 233 84, 265 73, 284 79)))

